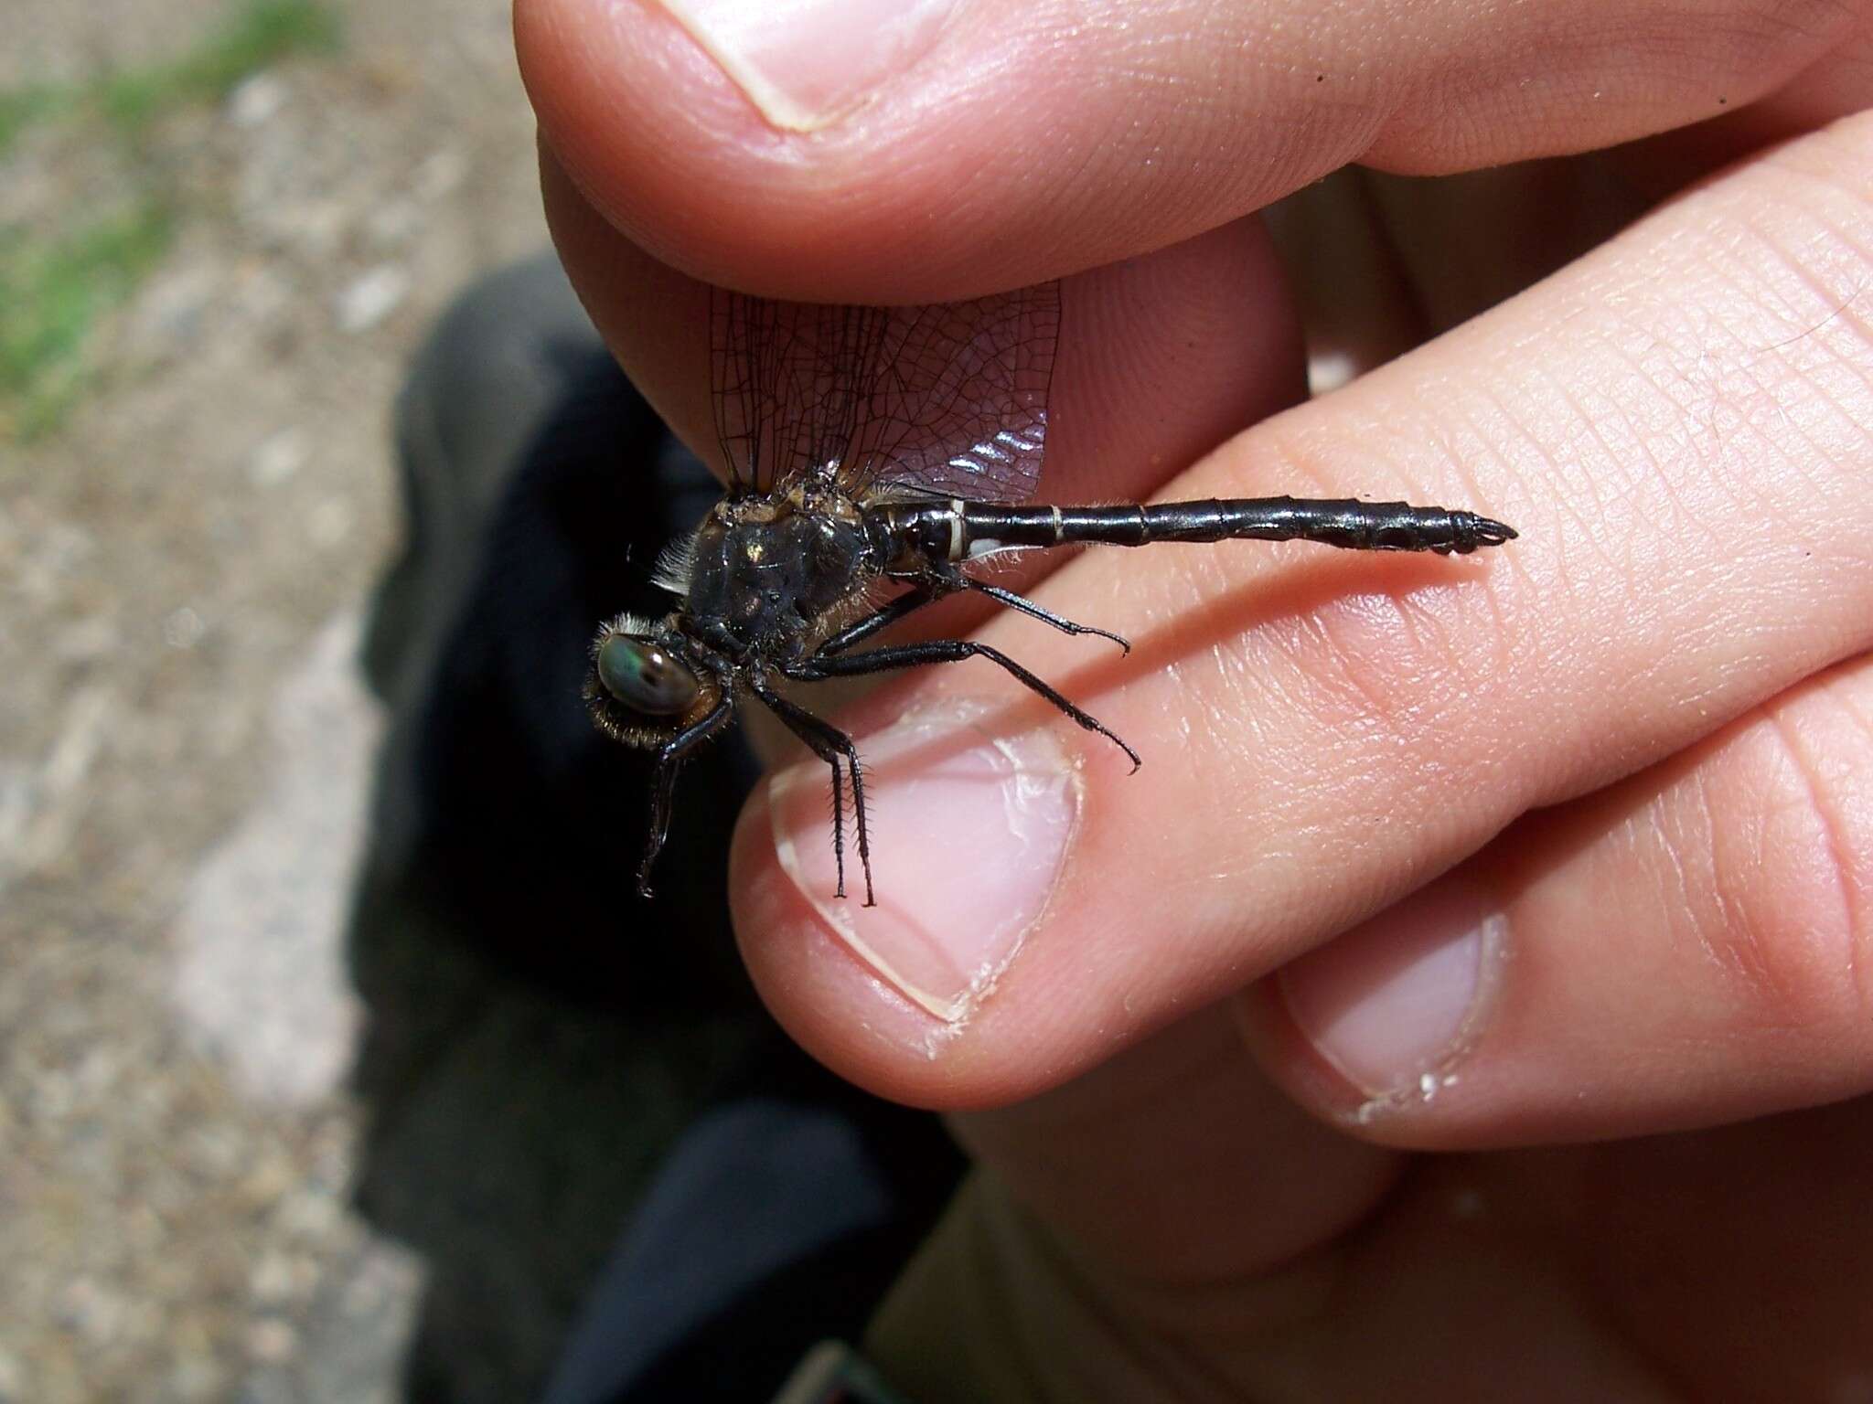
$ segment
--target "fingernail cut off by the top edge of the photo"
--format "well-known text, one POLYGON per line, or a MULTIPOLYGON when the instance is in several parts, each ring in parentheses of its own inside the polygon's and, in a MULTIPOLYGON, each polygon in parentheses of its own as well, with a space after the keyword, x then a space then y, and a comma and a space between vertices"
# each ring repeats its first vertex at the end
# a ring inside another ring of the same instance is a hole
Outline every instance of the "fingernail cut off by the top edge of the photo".
POLYGON ((747 101, 817 131, 916 64, 955 0, 661 0, 747 101))

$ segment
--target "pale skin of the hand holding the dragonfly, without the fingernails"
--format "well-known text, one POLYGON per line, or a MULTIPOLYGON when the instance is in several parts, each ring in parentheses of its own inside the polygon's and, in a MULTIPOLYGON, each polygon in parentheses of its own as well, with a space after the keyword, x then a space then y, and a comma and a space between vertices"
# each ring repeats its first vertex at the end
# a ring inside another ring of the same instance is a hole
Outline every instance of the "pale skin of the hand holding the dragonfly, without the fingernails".
POLYGON ((566 266, 693 442, 697 279, 1079 275, 1049 498, 1521 532, 1028 567, 1129 659, 920 616, 1146 756, 1064 738, 1068 876, 936 1056, 757 794, 764 998, 978 1163, 886 1370, 931 1404, 1873 1398, 1873 4, 961 4, 811 137, 650 4, 519 0, 517 36, 566 266), (1450 180, 1347 172, 1277 256, 1255 212, 1349 163, 1450 180), (1302 402, 1309 346, 1354 378, 1302 402), (1438 904, 1506 957, 1455 1080, 1375 1099, 1305 1011, 1438 904))

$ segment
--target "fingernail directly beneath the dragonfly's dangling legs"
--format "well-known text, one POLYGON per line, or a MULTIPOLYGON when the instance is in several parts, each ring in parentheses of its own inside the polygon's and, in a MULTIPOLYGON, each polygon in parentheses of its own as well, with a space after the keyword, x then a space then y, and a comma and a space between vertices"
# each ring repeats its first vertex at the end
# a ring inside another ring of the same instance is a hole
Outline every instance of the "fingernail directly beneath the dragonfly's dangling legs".
POLYGON ((1047 730, 996 736, 987 708, 946 702, 860 741, 877 906, 865 906, 852 797, 833 895, 824 762, 772 782, 781 869, 860 960, 936 1018, 961 1022, 1041 919, 1079 824, 1079 768, 1047 730))

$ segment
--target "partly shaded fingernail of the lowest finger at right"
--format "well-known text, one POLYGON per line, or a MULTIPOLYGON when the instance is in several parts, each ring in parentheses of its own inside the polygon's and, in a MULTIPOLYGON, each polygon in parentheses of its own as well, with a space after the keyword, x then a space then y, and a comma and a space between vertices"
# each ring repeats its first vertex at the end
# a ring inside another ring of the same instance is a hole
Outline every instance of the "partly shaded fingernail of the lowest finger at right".
POLYGON ((1367 1097, 1423 1090, 1482 1031, 1506 923, 1482 893, 1442 882, 1279 973, 1304 1035, 1367 1097))

